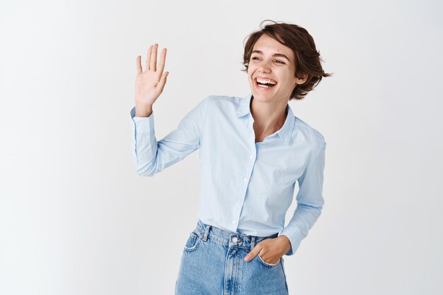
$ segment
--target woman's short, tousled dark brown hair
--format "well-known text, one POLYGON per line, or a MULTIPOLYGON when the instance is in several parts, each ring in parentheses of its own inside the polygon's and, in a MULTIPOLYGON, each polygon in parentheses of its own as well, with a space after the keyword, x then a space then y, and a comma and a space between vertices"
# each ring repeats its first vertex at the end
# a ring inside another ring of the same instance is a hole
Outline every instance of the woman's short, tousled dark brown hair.
MULTIPOLYGON (((260 23, 260 28, 265 21, 267 20, 263 20, 260 23)), ((266 34, 292 49, 295 55, 295 77, 303 78, 305 74, 308 75, 305 83, 296 85, 291 97, 289 97, 289 100, 302 100, 309 91, 313 90, 320 83, 321 78, 332 76, 332 73, 325 73, 323 71, 321 67, 323 59, 321 59, 320 52, 316 49, 313 37, 309 35, 307 30, 299 25, 270 21, 273 24, 265 25, 261 30, 255 31, 248 36, 243 53, 243 66, 245 68, 241 71, 248 72, 249 60, 251 59, 254 44, 262 35, 266 34)))

